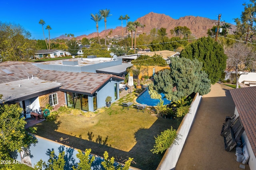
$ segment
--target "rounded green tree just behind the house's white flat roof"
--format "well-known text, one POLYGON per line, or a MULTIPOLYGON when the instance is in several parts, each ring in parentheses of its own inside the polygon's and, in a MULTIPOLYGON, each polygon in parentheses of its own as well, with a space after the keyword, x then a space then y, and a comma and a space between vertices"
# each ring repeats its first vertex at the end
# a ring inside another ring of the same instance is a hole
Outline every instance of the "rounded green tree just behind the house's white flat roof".
POLYGON ((84 57, 87 57, 88 55, 96 55, 97 57, 110 57, 110 52, 98 43, 92 44, 90 49, 83 47, 82 50, 84 52, 84 57))

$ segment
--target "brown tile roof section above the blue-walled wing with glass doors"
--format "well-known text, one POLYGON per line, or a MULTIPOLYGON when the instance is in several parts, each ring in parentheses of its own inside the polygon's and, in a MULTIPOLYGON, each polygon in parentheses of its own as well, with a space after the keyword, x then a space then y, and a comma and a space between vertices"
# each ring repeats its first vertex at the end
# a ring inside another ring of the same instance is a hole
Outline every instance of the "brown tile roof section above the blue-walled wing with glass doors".
POLYGON ((111 78, 124 80, 124 78, 112 74, 99 74, 90 72, 65 72, 56 70, 40 70, 37 76, 42 80, 61 82, 60 89, 65 91, 84 92, 94 94, 101 86, 111 78))

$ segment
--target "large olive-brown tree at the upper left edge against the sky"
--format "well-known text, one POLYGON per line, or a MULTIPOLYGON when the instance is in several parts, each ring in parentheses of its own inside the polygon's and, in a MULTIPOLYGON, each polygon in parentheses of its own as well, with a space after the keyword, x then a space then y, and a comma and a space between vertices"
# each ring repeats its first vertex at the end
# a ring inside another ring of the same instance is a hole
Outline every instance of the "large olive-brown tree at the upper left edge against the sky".
POLYGON ((0 61, 28 61, 36 45, 30 37, 22 26, 0 21, 0 61))

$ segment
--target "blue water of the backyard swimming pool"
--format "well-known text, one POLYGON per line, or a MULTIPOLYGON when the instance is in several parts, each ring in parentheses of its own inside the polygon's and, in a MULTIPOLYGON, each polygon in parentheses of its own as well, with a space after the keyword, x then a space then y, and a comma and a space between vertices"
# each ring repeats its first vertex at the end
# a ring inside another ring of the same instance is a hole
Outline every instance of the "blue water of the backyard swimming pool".
MULTIPOLYGON (((162 100, 164 101, 164 105, 170 104, 170 100, 167 100, 163 93, 161 93, 162 100)), ((157 104, 160 102, 159 99, 152 99, 150 98, 150 94, 148 93, 148 89, 146 89, 145 92, 143 92, 137 99, 136 102, 139 104, 146 104, 148 106, 157 106, 157 104)))

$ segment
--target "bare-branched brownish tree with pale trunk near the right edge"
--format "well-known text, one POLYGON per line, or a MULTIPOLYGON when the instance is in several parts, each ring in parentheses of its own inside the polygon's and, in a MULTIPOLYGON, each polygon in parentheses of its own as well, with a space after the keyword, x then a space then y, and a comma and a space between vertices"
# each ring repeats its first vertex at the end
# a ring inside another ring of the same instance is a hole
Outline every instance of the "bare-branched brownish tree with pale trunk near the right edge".
POLYGON ((227 47, 225 53, 228 56, 228 70, 235 70, 236 72, 236 88, 238 88, 239 71, 250 70, 250 67, 255 66, 253 65, 256 61, 255 53, 252 51, 252 47, 240 42, 227 47))

